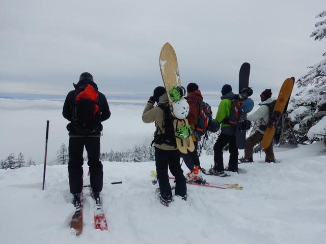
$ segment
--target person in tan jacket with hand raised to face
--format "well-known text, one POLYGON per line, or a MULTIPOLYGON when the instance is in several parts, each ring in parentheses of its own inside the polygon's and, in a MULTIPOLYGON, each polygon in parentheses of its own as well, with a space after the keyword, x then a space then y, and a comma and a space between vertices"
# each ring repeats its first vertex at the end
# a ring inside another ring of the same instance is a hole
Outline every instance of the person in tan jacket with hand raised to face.
POLYGON ((154 89, 153 96, 148 100, 143 111, 143 122, 154 123, 154 147, 155 147, 155 165, 159 185, 159 197, 162 204, 167 205, 172 200, 171 185, 169 182, 169 172, 175 177, 175 195, 181 196, 186 200, 186 184, 183 170, 180 165, 180 151, 176 146, 175 138, 168 138, 165 128, 164 107, 169 106, 168 95, 165 87, 158 86, 154 89), (157 106, 154 107, 154 103, 157 106))

